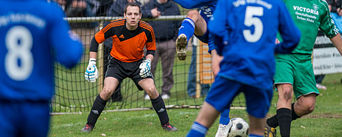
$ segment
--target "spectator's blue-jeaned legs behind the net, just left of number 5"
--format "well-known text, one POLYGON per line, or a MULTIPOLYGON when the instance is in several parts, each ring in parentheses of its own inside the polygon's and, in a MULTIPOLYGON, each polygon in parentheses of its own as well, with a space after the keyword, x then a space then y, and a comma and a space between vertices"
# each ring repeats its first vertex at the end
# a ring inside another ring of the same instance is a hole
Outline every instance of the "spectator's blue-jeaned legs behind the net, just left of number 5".
MULTIPOLYGON (((189 67, 189 76, 187 77, 187 94, 189 97, 196 98, 196 45, 192 45, 192 60, 189 67)), ((205 96, 210 89, 209 84, 200 84, 200 95, 205 96)))

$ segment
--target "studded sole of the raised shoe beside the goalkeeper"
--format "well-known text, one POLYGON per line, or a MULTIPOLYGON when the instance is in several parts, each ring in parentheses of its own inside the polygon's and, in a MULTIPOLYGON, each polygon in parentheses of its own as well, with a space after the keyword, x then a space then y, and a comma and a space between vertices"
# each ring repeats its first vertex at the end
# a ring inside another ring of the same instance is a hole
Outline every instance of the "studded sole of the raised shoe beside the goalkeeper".
POLYGON ((187 58, 187 54, 185 48, 187 47, 187 36, 185 34, 181 34, 176 39, 176 49, 177 49, 177 57, 179 60, 185 60, 187 58))

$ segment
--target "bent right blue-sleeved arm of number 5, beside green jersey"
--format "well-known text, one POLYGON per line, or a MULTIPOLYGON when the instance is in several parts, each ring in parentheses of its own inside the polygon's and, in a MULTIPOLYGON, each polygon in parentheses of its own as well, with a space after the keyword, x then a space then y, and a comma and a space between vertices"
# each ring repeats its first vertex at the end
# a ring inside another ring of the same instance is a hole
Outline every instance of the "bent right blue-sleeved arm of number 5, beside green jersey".
POLYGON ((283 41, 276 45, 276 53, 291 53, 300 42, 300 30, 284 3, 280 3, 278 10, 279 32, 283 41))

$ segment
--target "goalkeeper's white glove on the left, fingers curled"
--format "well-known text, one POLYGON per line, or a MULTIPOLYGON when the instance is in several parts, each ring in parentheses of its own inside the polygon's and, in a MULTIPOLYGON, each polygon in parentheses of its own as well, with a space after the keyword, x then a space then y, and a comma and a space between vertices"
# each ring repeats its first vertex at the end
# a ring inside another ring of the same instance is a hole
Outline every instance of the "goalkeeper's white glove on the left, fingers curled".
POLYGON ((89 64, 86 70, 86 73, 84 73, 84 77, 88 82, 96 82, 96 79, 98 78, 98 70, 96 68, 96 59, 90 58, 89 64))

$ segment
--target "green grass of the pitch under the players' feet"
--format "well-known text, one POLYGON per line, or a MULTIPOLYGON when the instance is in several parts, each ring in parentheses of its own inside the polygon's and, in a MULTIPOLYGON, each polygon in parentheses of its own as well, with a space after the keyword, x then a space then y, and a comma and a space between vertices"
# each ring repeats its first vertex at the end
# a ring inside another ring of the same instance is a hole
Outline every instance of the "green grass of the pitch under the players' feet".
MULTIPOLYGON (((342 73, 327 75, 320 90, 315 111, 291 124, 291 136, 341 136, 342 134, 342 73)), ((276 92, 275 92, 276 94, 276 92)), ((167 103, 168 101, 166 101, 167 103)), ((146 104, 149 102, 146 102, 146 104)), ((150 104, 150 103, 149 103, 150 104)), ((272 100, 268 116, 276 112, 276 97, 272 100)), ((53 115, 49 136, 185 136, 189 131, 198 109, 169 109, 170 123, 178 132, 165 132, 159 124, 154 110, 129 112, 103 112, 90 134, 79 132, 86 124, 89 112, 82 114, 53 115)), ((231 118, 241 117, 248 121, 246 110, 231 110, 231 118)), ((215 136, 218 120, 209 129, 207 136, 215 136)), ((279 129, 278 136, 279 134, 279 129)))

